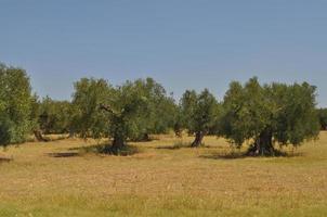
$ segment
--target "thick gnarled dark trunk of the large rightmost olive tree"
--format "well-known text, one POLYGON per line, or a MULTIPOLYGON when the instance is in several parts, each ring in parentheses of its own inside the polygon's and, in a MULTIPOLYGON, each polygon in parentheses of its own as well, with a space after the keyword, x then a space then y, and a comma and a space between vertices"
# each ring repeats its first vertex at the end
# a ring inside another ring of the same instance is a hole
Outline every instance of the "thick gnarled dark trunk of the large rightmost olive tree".
POLYGON ((249 150, 250 155, 274 155, 273 133, 265 129, 256 139, 254 146, 249 150))

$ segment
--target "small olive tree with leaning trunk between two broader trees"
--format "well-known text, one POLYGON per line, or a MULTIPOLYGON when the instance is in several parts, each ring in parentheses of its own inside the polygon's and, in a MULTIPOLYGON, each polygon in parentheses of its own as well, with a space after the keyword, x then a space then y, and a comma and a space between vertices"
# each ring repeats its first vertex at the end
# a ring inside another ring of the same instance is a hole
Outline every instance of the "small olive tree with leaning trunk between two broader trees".
POLYGON ((194 90, 187 90, 180 103, 183 117, 182 125, 188 133, 195 133, 193 148, 201 144, 204 137, 215 128, 219 116, 219 103, 215 98, 205 89, 197 94, 194 90))

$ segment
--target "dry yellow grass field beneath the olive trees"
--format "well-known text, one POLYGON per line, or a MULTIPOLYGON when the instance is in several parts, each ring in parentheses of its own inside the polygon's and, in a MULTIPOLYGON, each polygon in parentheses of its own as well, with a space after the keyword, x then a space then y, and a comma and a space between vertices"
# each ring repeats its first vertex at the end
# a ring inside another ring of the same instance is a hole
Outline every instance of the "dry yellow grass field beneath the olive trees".
POLYGON ((131 156, 78 139, 1 150, 0 216, 327 216, 326 132, 288 157, 233 157, 214 137, 175 145, 191 139, 133 143, 131 156))

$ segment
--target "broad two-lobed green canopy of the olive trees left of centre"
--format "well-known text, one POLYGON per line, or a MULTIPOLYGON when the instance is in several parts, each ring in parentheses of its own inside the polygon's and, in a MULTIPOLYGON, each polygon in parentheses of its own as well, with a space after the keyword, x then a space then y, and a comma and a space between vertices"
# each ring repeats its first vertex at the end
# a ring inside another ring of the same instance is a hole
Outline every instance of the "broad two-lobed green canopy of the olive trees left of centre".
POLYGON ((174 102, 152 78, 112 87, 105 80, 83 78, 75 85, 74 126, 83 137, 110 136, 114 144, 142 140, 173 125, 174 102), (102 112, 101 112, 102 111, 102 112))

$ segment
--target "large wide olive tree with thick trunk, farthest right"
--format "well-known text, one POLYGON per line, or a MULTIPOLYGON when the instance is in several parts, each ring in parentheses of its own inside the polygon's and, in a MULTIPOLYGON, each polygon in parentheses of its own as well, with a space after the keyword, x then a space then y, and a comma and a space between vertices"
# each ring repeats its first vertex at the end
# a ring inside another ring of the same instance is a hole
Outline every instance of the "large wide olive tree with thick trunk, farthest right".
POLYGON ((220 135, 237 146, 253 141, 249 152, 274 155, 274 144, 300 145, 318 133, 315 87, 306 82, 261 86, 251 78, 232 82, 223 103, 220 135))

